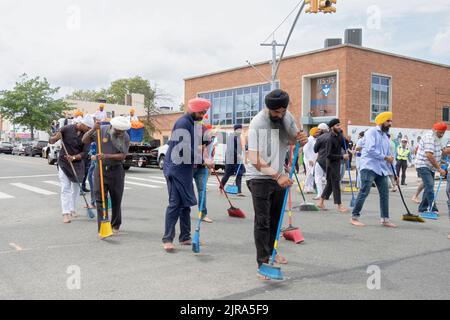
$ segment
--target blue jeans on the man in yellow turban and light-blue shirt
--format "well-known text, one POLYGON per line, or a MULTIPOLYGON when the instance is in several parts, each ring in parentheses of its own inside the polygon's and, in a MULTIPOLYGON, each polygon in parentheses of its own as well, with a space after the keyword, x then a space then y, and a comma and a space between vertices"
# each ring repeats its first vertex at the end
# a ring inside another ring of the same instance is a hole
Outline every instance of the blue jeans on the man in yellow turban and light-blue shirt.
POLYGON ((366 201, 367 196, 372 188, 372 183, 375 182, 380 194, 380 212, 381 218, 389 218, 389 186, 388 177, 379 176, 372 170, 363 169, 360 171, 361 174, 361 189, 359 191, 358 197, 356 198, 356 204, 353 208, 352 216, 353 218, 359 218, 361 216, 361 210, 366 201))

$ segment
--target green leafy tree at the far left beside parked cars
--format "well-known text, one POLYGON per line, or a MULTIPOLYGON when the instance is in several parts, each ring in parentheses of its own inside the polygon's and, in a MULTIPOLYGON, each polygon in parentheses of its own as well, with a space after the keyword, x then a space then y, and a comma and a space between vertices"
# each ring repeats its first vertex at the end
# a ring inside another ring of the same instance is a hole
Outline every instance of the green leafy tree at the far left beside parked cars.
POLYGON ((54 99, 59 88, 51 88, 46 78, 20 77, 13 90, 0 91, 0 114, 14 124, 26 126, 34 139, 34 130, 48 130, 52 121, 71 107, 54 99))

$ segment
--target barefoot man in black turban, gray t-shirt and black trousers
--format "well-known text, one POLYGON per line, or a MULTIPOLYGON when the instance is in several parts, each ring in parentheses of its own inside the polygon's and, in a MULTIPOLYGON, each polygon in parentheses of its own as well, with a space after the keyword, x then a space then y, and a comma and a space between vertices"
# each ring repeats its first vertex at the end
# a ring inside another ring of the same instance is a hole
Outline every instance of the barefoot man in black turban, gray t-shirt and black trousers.
MULTIPOLYGON (((283 90, 274 90, 265 98, 266 108, 250 123, 247 185, 252 194, 255 210, 254 237, 258 270, 268 263, 275 243, 285 188, 293 181, 284 169, 285 155, 289 144, 307 142, 300 132, 294 117, 287 111, 289 95, 283 90)), ((276 262, 286 264, 286 258, 277 255, 276 262)), ((267 277, 258 273, 262 280, 267 277)))

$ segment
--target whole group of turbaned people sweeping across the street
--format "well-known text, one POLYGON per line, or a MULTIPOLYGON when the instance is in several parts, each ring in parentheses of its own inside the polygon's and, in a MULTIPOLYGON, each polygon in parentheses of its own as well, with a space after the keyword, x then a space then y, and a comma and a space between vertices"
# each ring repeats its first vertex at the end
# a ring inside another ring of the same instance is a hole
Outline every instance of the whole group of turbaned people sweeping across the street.
MULTIPOLYGON (((294 181, 287 174, 286 154, 290 146, 298 145, 303 161, 296 166, 303 167, 306 174, 304 189, 315 194, 314 199, 321 210, 328 210, 326 201, 333 195, 337 212, 350 213, 341 199, 341 180, 351 169, 352 158, 356 164, 356 190, 358 195, 351 211, 351 225, 363 227, 361 222, 365 200, 371 188, 376 186, 379 192, 380 224, 387 228, 397 227, 389 215, 389 190, 398 185, 406 185, 406 171, 416 158, 415 167, 423 184, 423 196, 418 212, 433 210, 438 212, 434 201, 434 176, 447 175, 441 160, 450 154, 450 146, 444 145, 443 136, 447 130, 444 123, 436 123, 432 132, 421 140, 418 148, 411 152, 407 139, 394 147, 390 137, 393 124, 392 112, 379 114, 376 125, 360 132, 354 143, 345 136, 339 119, 332 119, 312 128, 307 133, 297 127, 294 116, 289 112, 289 94, 277 89, 265 97, 265 105, 251 121, 245 137, 241 125, 227 141, 225 156, 225 174, 221 181, 220 192, 226 192, 225 186, 230 177, 236 175, 238 196, 242 192, 242 177, 246 175, 246 185, 251 193, 254 208, 254 240, 258 270, 268 263, 276 241, 277 227, 285 199, 285 192, 294 181), (394 177, 400 177, 395 179, 394 177), (433 208, 430 208, 433 204, 433 208)), ((167 182, 168 206, 165 213, 165 229, 162 237, 163 249, 175 250, 175 227, 180 222, 180 245, 191 245, 191 207, 199 206, 204 222, 212 223, 208 217, 206 202, 205 176, 213 170, 214 147, 216 141, 211 126, 203 122, 211 103, 195 98, 189 101, 186 113, 175 123, 168 142, 169 149, 164 162, 164 176, 167 182), (196 185, 196 193, 194 191, 196 185), (199 198, 203 198, 199 201, 199 198)), ((81 181, 90 182, 92 199, 90 207, 97 208, 100 228, 102 215, 102 196, 100 175, 103 172, 104 189, 112 203, 112 227, 118 234, 121 221, 121 201, 124 190, 123 161, 128 153, 130 138, 127 130, 131 127, 133 113, 127 117, 116 117, 106 125, 100 125, 104 118, 102 108, 95 116, 79 117, 71 125, 55 130, 51 143, 62 140, 66 150, 61 152, 58 161, 59 179, 62 185, 61 207, 63 221, 69 223, 75 215, 76 199, 80 192, 81 181), (100 145, 96 145, 99 141, 100 145), (99 152, 99 150, 103 150, 99 152), (87 166, 86 163, 92 162, 87 166), (99 160, 102 169, 99 170, 99 160), (95 201, 94 201, 95 199, 95 201)), ((419 186, 420 187, 420 186, 419 186)), ((83 187, 81 187, 83 188, 83 187)), ((447 185, 450 212, 450 184, 447 185)), ((417 199, 415 196, 414 200, 417 199)), ((103 199, 104 202, 104 199, 103 199)), ((450 236, 449 236, 450 237, 450 236)), ((286 257, 276 256, 276 262, 287 263, 286 257)), ((258 273, 258 277, 269 280, 258 273)))

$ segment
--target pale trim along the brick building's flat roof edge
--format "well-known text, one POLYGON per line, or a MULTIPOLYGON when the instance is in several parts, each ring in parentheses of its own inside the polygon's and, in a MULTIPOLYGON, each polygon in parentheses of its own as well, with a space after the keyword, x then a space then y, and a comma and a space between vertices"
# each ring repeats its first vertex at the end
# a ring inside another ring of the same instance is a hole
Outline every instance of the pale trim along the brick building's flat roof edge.
MULTIPOLYGON (((353 45, 353 44, 341 44, 341 45, 337 45, 337 46, 333 46, 333 47, 329 47, 329 48, 322 48, 322 49, 318 49, 318 50, 314 50, 314 51, 308 51, 308 52, 304 52, 304 53, 300 53, 300 54, 295 54, 295 55, 284 57, 283 60, 295 59, 295 58, 299 58, 299 57, 303 57, 303 56, 307 56, 307 55, 311 55, 311 54, 316 54, 316 53, 321 53, 321 52, 331 51, 331 50, 337 50, 337 49, 341 49, 341 48, 354 48, 354 49, 358 49, 358 50, 369 51, 369 52, 372 52, 372 53, 388 55, 388 56, 392 56, 392 57, 396 57, 396 58, 412 60, 412 61, 416 61, 416 62, 431 64, 431 65, 434 65, 434 66, 443 67, 443 68, 449 68, 450 69, 450 65, 437 63, 437 62, 432 62, 432 61, 423 60, 423 59, 418 59, 418 58, 412 58, 412 57, 408 57, 408 56, 404 56, 404 55, 400 55, 400 54, 396 54, 396 53, 392 53, 392 52, 381 51, 381 50, 372 49, 372 48, 366 48, 366 47, 361 47, 361 46, 357 46, 357 45, 353 45)), ((264 65, 264 64, 271 63, 271 62, 272 62, 271 60, 268 60, 268 61, 258 62, 258 63, 254 64, 254 65, 255 66, 259 66, 259 65, 264 65)), ((203 78, 203 77, 212 76, 212 75, 216 75, 216 74, 220 74, 220 73, 237 71, 237 70, 247 69, 247 68, 250 68, 250 67, 248 65, 246 65, 246 66, 241 66, 241 67, 236 67, 236 68, 230 68, 230 69, 225 69, 225 70, 221 70, 221 71, 210 72, 210 73, 205 73, 205 74, 202 74, 202 75, 188 77, 188 78, 185 78, 184 80, 185 81, 193 80, 193 79, 197 79, 197 78, 203 78)))

